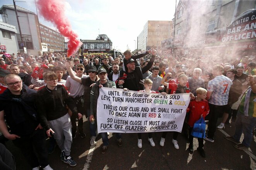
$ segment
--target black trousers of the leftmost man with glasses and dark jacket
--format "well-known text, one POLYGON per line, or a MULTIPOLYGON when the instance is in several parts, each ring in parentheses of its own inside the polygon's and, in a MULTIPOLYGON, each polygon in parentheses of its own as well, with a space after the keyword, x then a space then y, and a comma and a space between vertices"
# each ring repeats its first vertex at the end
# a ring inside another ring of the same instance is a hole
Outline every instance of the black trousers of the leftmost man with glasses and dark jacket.
POLYGON ((12 142, 16 147, 20 148, 32 168, 39 165, 42 167, 49 165, 44 129, 35 130, 31 135, 16 138, 12 142))

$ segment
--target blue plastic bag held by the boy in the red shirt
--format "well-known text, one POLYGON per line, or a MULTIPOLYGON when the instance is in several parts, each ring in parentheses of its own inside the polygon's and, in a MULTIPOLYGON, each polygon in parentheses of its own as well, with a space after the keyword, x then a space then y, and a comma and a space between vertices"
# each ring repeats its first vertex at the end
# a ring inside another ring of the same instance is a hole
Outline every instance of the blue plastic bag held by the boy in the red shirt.
POLYGON ((205 138, 206 123, 203 117, 195 122, 191 135, 197 138, 205 138))

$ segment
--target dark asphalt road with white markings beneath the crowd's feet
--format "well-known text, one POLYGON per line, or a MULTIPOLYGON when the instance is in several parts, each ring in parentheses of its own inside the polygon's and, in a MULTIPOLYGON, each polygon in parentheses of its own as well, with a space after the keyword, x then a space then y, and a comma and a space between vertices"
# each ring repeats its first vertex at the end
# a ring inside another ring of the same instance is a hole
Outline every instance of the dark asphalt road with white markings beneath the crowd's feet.
MULTIPOLYGON (((218 123, 220 123, 220 119, 218 123)), ((218 124, 217 124, 218 125, 218 124)), ((180 134, 177 138, 179 150, 176 150, 171 142, 172 132, 167 133, 164 147, 159 142, 162 132, 153 133, 155 147, 148 142, 147 133, 142 134, 142 148, 137 147, 137 134, 122 134, 123 145, 119 147, 112 133, 109 135, 109 146, 106 153, 101 153, 102 140, 100 135, 96 138, 95 146, 90 146, 89 122, 84 117, 85 138, 73 139, 71 157, 77 162, 76 167, 70 167, 61 162, 60 149, 49 154, 49 164, 55 170, 254 170, 256 169, 256 137, 251 143, 249 151, 236 149, 232 142, 224 138, 225 135, 233 135, 234 122, 225 125, 225 129, 217 130, 214 143, 204 141, 206 158, 199 155, 196 150, 197 139, 194 138, 194 152, 189 153, 189 142, 180 134)), ((242 139, 242 138, 241 138, 242 139)), ((47 140, 48 143, 48 140, 47 140)), ((17 170, 31 169, 22 153, 11 141, 6 143, 16 161, 17 170)), ((1 169, 1 168, 0 168, 1 169)))

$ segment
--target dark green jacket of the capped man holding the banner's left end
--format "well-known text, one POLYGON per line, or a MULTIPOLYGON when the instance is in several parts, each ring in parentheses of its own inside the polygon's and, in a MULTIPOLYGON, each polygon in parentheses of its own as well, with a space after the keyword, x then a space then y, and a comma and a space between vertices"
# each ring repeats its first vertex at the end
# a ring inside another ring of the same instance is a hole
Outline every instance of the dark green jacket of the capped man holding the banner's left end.
MULTIPOLYGON (((94 115, 95 118, 97 113, 97 101, 99 97, 99 82, 100 80, 95 83, 90 91, 90 115, 94 115)), ((116 88, 116 84, 115 82, 107 80, 105 87, 116 88)))

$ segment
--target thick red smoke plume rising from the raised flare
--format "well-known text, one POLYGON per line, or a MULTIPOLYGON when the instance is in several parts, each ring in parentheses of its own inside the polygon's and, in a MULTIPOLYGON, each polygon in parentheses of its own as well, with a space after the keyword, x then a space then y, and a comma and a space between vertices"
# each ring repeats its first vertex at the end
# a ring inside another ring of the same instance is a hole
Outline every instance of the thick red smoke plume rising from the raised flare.
POLYGON ((48 20, 56 25, 59 32, 68 38, 68 57, 77 52, 82 42, 78 40, 78 35, 73 32, 71 24, 65 17, 65 1, 63 0, 37 0, 38 9, 45 20, 48 20))

